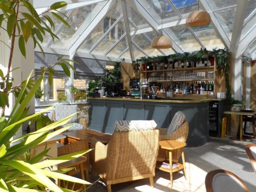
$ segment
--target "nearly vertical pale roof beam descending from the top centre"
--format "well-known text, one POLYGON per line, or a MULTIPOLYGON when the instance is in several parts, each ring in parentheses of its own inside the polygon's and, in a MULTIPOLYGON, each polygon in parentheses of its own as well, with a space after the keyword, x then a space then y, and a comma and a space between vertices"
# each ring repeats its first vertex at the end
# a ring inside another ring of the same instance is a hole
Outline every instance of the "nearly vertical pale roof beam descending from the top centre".
POLYGON ((123 12, 124 28, 126 31, 128 48, 130 51, 130 57, 132 60, 134 60, 132 39, 131 39, 131 35, 130 35, 130 28, 129 28, 129 23, 128 23, 128 15, 127 15, 127 9, 126 9, 126 5, 125 5, 125 0, 121 1, 121 5, 122 5, 122 12, 123 12))

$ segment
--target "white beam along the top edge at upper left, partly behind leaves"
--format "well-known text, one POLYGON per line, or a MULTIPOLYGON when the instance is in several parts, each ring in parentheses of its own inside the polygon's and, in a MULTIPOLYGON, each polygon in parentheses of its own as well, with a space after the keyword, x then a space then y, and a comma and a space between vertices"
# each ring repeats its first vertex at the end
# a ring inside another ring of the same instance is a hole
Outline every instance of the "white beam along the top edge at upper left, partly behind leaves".
MULTIPOLYGON (((76 5, 82 5, 82 6, 86 6, 86 5, 90 5, 90 4, 94 4, 94 3, 98 3, 98 2, 103 2, 106 0, 66 0, 65 2, 68 3, 68 6, 75 6, 76 5)), ((49 8, 52 4, 60 2, 60 0, 37 0, 37 1, 33 1, 33 7, 35 9, 38 8, 49 8)))

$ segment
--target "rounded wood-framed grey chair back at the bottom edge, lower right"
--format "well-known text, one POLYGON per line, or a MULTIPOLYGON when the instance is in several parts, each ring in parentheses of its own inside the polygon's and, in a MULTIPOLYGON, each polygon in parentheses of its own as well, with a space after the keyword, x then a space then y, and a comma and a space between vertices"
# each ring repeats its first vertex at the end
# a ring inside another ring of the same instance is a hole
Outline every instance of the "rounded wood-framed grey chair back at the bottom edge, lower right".
POLYGON ((245 183, 228 170, 217 169, 205 177, 206 192, 248 192, 245 183))

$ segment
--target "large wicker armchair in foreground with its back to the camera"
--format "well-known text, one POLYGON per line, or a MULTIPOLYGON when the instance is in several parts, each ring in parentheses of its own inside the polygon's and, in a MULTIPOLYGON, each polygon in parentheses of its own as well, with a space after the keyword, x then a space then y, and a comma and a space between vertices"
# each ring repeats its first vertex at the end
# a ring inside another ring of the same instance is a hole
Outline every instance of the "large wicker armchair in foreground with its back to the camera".
POLYGON ((111 184, 153 177, 158 154, 159 131, 133 131, 114 133, 107 145, 93 138, 91 164, 105 182, 108 192, 111 184))

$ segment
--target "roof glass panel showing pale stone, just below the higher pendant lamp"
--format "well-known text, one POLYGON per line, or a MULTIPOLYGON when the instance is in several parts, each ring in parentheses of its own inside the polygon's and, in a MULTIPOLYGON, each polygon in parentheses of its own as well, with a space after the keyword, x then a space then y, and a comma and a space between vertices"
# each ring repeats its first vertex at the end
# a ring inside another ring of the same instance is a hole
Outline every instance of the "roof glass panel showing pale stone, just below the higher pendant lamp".
POLYGON ((225 47, 212 25, 193 27, 192 29, 207 50, 223 49, 225 47))

